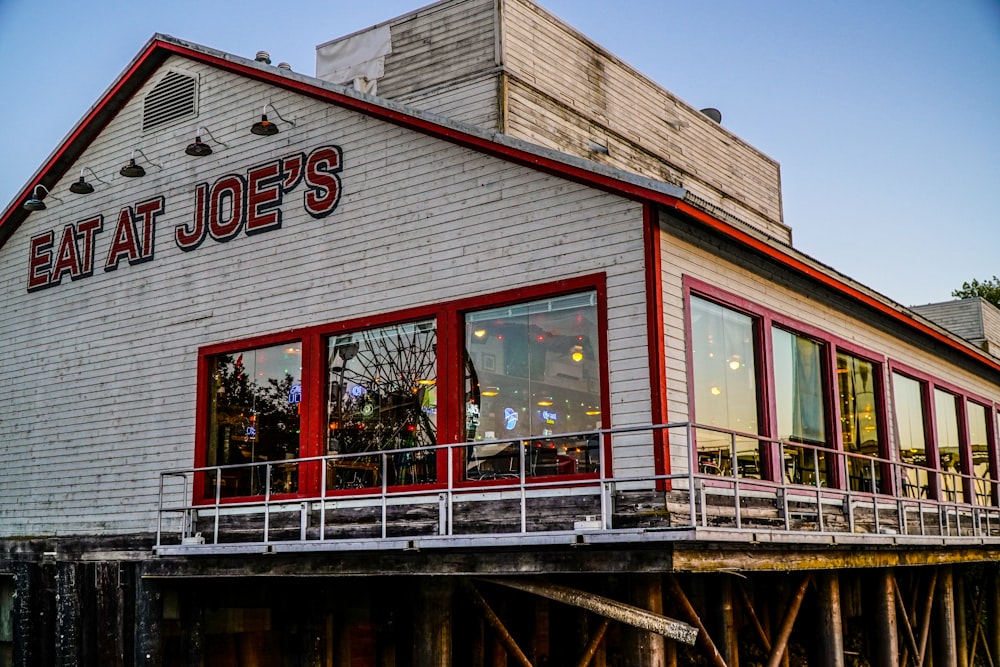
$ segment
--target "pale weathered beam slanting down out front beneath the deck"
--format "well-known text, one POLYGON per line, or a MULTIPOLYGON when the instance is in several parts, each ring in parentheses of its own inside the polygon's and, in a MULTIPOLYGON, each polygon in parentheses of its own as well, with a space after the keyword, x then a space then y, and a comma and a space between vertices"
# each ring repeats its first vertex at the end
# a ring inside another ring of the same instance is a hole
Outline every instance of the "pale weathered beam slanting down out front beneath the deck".
POLYGON ((655 614, 653 612, 646 611, 645 609, 640 609, 633 605, 611 600, 600 595, 594 595, 593 593, 588 593, 586 591, 569 588, 568 586, 506 578, 484 578, 483 581, 488 581, 499 586, 507 586, 508 588, 524 591, 526 593, 532 593, 534 595, 541 595, 542 597, 547 597, 550 600, 562 602, 563 604, 572 605, 574 607, 582 607, 583 609, 592 611, 595 614, 607 616, 614 621, 619 621, 643 630, 655 632, 663 635, 664 637, 684 642, 685 644, 693 645, 698 636, 697 628, 694 628, 687 623, 682 623, 681 621, 667 618, 666 616, 655 614))

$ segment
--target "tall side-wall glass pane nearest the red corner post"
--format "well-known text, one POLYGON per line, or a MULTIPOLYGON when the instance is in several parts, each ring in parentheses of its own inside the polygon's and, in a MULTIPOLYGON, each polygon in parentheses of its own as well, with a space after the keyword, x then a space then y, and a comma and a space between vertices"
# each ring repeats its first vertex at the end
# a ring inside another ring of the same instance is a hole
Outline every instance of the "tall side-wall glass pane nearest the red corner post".
MULTIPOLYGON (((754 321, 742 313, 691 298, 691 363, 695 418, 699 424, 740 433, 758 432, 759 404, 754 355, 754 321)), ((701 472, 761 477, 760 444, 699 429, 701 472)))

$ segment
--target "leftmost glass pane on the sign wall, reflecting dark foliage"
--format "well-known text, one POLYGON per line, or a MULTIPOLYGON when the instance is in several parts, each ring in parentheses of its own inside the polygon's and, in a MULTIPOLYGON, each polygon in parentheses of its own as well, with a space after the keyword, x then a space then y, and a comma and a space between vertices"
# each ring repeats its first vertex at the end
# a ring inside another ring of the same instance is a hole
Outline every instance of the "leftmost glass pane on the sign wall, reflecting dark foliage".
MULTIPOLYGON (((276 462, 299 455, 302 345, 299 342, 223 354, 209 360, 207 465, 276 462)), ((214 475, 206 480, 214 495, 214 475)), ((271 467, 271 492, 298 488, 294 465, 271 467)), ((222 496, 266 490, 264 466, 221 475, 222 496)))

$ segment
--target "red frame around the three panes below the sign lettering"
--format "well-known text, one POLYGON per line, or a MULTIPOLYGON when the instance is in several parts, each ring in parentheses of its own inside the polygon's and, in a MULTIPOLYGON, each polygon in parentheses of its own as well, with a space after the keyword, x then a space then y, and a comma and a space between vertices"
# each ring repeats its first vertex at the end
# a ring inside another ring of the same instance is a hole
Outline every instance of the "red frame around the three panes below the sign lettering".
MULTIPOLYGON (((300 413, 299 458, 325 455, 326 442, 326 352, 327 341, 341 333, 377 328, 392 324, 402 324, 433 319, 437 327, 437 385, 438 414, 437 441, 439 444, 461 443, 464 434, 464 375, 461 363, 464 346, 464 315, 477 310, 485 310, 506 305, 539 300, 543 298, 592 291, 597 295, 598 345, 601 355, 601 428, 607 428, 611 409, 608 379, 607 348, 607 287, 604 273, 596 273, 577 278, 569 278, 538 285, 492 292, 475 297, 417 306, 404 310, 355 317, 336 322, 310 325, 281 332, 235 339, 206 345, 198 349, 197 403, 195 408, 194 460, 196 467, 206 465, 207 435, 209 420, 209 368, 211 358, 220 354, 232 354, 247 350, 280 345, 293 341, 302 345, 302 409, 300 413)), ((610 440, 601 446, 601 456, 605 461, 605 474, 610 474, 610 440)), ((452 470, 453 479, 461 480, 461 460, 455 457, 452 470)), ((440 487, 447 479, 447 458, 437 457, 438 470, 435 484, 440 487)), ((285 497, 314 497, 320 493, 319 475, 316 466, 306 465, 301 469, 298 490, 285 497)), ((195 502, 214 502, 214 497, 205 493, 205 477, 199 473, 193 485, 195 502)), ((582 474, 581 476, 593 476, 582 474)), ((545 478, 532 478, 541 481, 545 478)), ((462 484, 464 482, 456 482, 462 484)), ((469 484, 473 482, 468 482, 469 484)), ((407 488, 419 488, 407 486, 407 488)), ((370 491, 370 490, 369 490, 370 491)), ((327 491, 327 495, 344 495, 351 490, 327 491)), ((224 498, 223 502, 245 502, 260 496, 236 496, 224 498)))

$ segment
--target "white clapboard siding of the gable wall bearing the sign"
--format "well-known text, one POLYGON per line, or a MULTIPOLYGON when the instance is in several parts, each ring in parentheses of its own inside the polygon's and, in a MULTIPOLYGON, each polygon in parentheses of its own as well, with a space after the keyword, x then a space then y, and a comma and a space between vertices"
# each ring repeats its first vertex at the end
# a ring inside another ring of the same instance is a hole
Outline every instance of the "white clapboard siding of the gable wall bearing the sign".
MULTIPOLYGON (((117 171, 135 145, 146 88, 126 104, 0 249, 0 535, 113 534, 155 527, 157 473, 194 463, 200 346, 607 272, 614 424, 649 415, 641 207, 529 168, 173 58, 201 77, 197 123, 228 147, 184 155, 194 127, 143 138, 160 162, 117 171), (296 126, 255 137, 270 101, 296 126), (343 195, 328 218, 286 196, 280 230, 173 243, 194 189, 324 144, 342 147, 343 195), (110 186, 74 196, 79 166, 110 186), (104 272, 121 207, 163 195, 149 263, 104 272), (26 292, 29 240, 105 216, 94 275, 26 292)), ((637 443, 642 448, 642 443, 637 443)), ((648 454, 648 447, 644 450, 648 454)), ((640 453, 633 458, 646 455, 640 453)))

